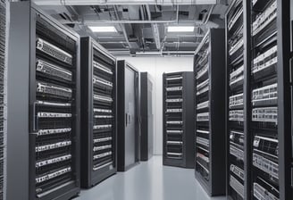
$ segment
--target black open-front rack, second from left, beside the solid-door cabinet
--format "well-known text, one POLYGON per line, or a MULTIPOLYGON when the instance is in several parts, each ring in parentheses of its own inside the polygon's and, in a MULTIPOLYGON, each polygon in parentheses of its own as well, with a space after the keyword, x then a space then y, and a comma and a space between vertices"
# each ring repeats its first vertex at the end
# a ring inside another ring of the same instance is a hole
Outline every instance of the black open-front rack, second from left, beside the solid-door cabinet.
POLYGON ((117 171, 116 59, 91 37, 81 37, 80 67, 80 184, 92 187, 117 171))

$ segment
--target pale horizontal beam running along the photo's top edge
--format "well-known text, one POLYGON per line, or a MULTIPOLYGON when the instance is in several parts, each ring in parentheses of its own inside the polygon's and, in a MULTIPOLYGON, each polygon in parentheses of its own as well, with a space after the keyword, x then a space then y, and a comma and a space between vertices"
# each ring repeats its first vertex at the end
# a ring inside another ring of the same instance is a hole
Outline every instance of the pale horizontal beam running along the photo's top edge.
POLYGON ((105 5, 105 4, 227 4, 227 0, 33 0, 38 5, 105 5))

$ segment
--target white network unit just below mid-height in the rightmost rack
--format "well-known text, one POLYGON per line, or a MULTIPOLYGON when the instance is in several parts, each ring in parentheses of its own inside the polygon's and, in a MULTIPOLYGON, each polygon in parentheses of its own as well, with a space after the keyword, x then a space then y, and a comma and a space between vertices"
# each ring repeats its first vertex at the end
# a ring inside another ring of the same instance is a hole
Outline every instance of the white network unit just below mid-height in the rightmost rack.
POLYGON ((252 110, 252 121, 274 122, 278 121, 277 107, 254 108, 252 110))

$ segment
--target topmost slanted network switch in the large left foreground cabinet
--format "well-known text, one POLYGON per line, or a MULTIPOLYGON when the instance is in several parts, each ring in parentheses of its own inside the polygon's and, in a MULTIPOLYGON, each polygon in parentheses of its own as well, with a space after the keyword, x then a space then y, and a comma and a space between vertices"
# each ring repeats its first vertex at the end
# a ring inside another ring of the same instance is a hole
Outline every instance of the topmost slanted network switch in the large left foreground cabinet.
POLYGON ((61 48, 54 46, 44 39, 37 38, 37 49, 48 54, 63 63, 72 64, 72 55, 63 51, 61 48))

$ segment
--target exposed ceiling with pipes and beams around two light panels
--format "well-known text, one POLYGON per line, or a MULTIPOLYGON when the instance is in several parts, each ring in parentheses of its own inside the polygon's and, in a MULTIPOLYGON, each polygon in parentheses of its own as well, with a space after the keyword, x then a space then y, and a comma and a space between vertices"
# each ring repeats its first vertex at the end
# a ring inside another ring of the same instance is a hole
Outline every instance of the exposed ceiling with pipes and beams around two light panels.
POLYGON ((207 29, 224 25, 230 1, 222 0, 34 0, 48 14, 90 35, 115 55, 194 54, 207 29), (194 27, 172 32, 168 27, 194 27), (90 27, 113 28, 93 32, 90 27))

